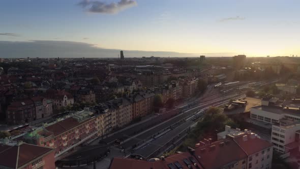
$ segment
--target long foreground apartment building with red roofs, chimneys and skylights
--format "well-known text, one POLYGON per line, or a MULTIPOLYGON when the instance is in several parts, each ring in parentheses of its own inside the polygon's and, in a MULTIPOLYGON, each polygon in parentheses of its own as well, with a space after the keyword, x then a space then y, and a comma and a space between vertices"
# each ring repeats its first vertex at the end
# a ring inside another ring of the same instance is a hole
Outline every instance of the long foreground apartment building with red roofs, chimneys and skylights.
POLYGON ((252 169, 272 168, 272 144, 260 139, 251 131, 211 142, 204 139, 189 148, 188 152, 148 161, 113 158, 109 166, 115 168, 201 168, 201 169, 252 169))

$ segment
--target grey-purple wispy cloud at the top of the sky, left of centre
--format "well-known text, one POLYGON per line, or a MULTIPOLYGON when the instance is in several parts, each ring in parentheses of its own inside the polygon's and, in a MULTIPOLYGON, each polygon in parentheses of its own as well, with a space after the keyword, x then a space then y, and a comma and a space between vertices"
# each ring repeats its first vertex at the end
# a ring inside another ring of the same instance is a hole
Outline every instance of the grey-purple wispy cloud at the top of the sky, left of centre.
POLYGON ((134 0, 121 0, 110 4, 101 1, 82 0, 78 5, 92 13, 116 14, 122 10, 136 6, 137 3, 134 0))

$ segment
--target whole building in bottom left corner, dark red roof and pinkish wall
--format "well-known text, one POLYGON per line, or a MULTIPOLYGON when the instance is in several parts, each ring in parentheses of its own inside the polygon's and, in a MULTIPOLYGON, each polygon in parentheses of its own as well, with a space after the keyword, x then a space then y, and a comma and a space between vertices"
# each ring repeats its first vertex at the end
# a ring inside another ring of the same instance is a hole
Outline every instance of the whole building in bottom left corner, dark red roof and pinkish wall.
POLYGON ((55 169, 54 152, 51 148, 8 142, 0 145, 0 168, 7 169, 55 169))

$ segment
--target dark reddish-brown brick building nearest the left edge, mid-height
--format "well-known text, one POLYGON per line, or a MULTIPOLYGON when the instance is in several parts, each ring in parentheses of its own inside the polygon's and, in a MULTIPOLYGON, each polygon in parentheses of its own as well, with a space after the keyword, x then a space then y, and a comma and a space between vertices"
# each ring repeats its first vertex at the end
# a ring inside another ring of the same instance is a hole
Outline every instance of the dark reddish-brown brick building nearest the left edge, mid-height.
POLYGON ((9 125, 24 124, 36 120, 36 109, 31 99, 12 102, 7 108, 6 121, 9 125))

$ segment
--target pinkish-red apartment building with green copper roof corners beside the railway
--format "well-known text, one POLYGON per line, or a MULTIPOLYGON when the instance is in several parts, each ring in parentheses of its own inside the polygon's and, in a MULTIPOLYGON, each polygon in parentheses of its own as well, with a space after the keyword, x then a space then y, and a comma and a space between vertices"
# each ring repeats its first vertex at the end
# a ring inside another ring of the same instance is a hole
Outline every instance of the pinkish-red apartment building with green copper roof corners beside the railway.
POLYGON ((27 143, 54 149, 55 158, 97 134, 97 119, 85 109, 72 117, 26 133, 27 143))

